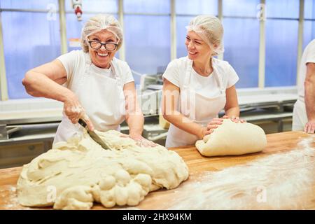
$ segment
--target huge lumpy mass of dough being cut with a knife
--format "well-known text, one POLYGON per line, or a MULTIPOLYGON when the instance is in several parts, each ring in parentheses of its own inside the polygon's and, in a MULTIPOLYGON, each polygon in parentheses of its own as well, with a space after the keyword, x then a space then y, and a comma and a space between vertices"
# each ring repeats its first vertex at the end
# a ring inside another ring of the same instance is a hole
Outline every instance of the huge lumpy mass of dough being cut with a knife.
POLYGON ((90 209, 94 201, 107 208, 134 206, 148 192, 176 188, 188 178, 186 163, 174 151, 139 147, 116 131, 97 134, 113 150, 104 150, 85 133, 24 165, 18 180, 20 204, 54 209, 90 209))

